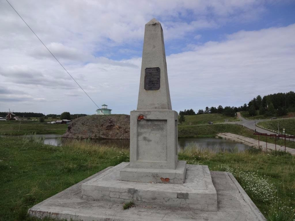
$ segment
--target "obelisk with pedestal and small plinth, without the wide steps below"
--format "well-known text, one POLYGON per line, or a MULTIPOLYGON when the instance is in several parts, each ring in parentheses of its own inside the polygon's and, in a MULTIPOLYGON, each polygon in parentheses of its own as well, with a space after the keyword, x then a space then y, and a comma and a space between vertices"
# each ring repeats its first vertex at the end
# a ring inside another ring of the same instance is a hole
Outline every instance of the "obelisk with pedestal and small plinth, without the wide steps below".
POLYGON ((177 112, 171 108, 163 29, 145 25, 137 110, 130 112, 130 164, 120 179, 182 184, 186 161, 177 159, 177 112))

